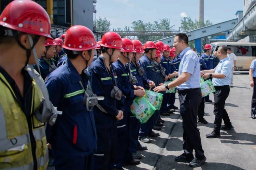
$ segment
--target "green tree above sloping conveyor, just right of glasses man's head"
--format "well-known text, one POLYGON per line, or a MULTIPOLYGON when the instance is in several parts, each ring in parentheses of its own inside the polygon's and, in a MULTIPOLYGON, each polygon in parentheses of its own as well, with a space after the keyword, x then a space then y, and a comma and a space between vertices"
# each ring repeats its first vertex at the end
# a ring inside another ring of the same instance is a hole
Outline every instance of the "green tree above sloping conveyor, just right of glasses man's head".
MULTIPOLYGON (((181 20, 181 27, 183 27, 184 31, 189 31, 189 30, 195 30, 198 28, 202 28, 202 27, 206 27, 206 26, 210 26, 212 25, 212 22, 210 22, 210 20, 206 20, 205 22, 203 22, 202 20, 192 20, 190 17, 184 17, 181 20)), ((207 42, 207 37, 202 38, 202 46, 204 46, 207 42)), ((195 47, 195 41, 189 41, 188 45, 190 47, 195 47)), ((200 51, 198 51, 200 52, 200 51)))

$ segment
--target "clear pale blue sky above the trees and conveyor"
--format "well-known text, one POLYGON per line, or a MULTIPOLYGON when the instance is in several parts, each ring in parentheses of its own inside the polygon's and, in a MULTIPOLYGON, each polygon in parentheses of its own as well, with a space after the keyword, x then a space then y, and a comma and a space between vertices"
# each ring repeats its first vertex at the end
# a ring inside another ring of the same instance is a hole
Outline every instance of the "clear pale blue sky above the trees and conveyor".
MULTIPOLYGON (((96 18, 106 17, 111 28, 131 26, 134 20, 153 22, 168 18, 175 30, 179 30, 183 16, 198 19, 199 0, 97 0, 96 18)), ((243 10, 243 0, 204 0, 204 21, 213 24, 236 18, 243 10)))

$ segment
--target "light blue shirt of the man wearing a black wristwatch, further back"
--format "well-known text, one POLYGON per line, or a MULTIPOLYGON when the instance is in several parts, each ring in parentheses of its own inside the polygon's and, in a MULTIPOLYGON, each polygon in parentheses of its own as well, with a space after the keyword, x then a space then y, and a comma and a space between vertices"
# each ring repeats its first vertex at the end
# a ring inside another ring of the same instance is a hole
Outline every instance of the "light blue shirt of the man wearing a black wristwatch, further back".
POLYGON ((225 86, 229 85, 232 76, 232 66, 228 57, 219 61, 219 64, 214 68, 214 73, 224 74, 226 77, 224 79, 212 78, 213 86, 225 86))

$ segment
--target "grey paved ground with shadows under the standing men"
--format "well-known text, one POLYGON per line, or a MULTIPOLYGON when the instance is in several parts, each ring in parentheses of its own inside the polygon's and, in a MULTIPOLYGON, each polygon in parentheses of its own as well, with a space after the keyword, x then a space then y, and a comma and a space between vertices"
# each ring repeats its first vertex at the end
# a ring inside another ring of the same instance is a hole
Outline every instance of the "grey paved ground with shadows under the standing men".
MULTIPOLYGON (((205 103, 204 118, 208 124, 198 123, 201 134, 202 147, 207 157, 206 162, 198 168, 203 170, 255 170, 256 169, 256 119, 251 119, 252 88, 249 86, 248 71, 236 71, 234 74, 234 86, 230 88, 229 97, 226 100, 227 110, 233 130, 221 131, 221 137, 208 139, 205 134, 212 132, 214 114, 213 103, 205 103)), ((213 99, 213 94, 210 95, 213 99)), ((179 106, 178 94, 175 105, 179 106)), ((165 120, 159 137, 151 138, 152 142, 146 145, 148 150, 138 151, 142 154, 141 164, 138 166, 126 166, 130 170, 169 170, 169 169, 193 169, 188 163, 177 163, 175 156, 183 153, 182 148, 182 118, 177 109, 165 120)), ((223 122, 222 122, 223 124, 223 122)))

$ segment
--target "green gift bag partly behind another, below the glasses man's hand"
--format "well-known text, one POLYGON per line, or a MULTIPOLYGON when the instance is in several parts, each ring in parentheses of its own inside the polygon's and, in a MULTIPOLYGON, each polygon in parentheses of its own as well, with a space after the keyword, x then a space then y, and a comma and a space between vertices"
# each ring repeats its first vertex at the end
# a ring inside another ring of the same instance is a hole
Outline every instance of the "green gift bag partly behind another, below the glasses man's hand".
POLYGON ((159 111, 163 100, 163 94, 151 90, 145 90, 145 92, 147 100, 159 111))

